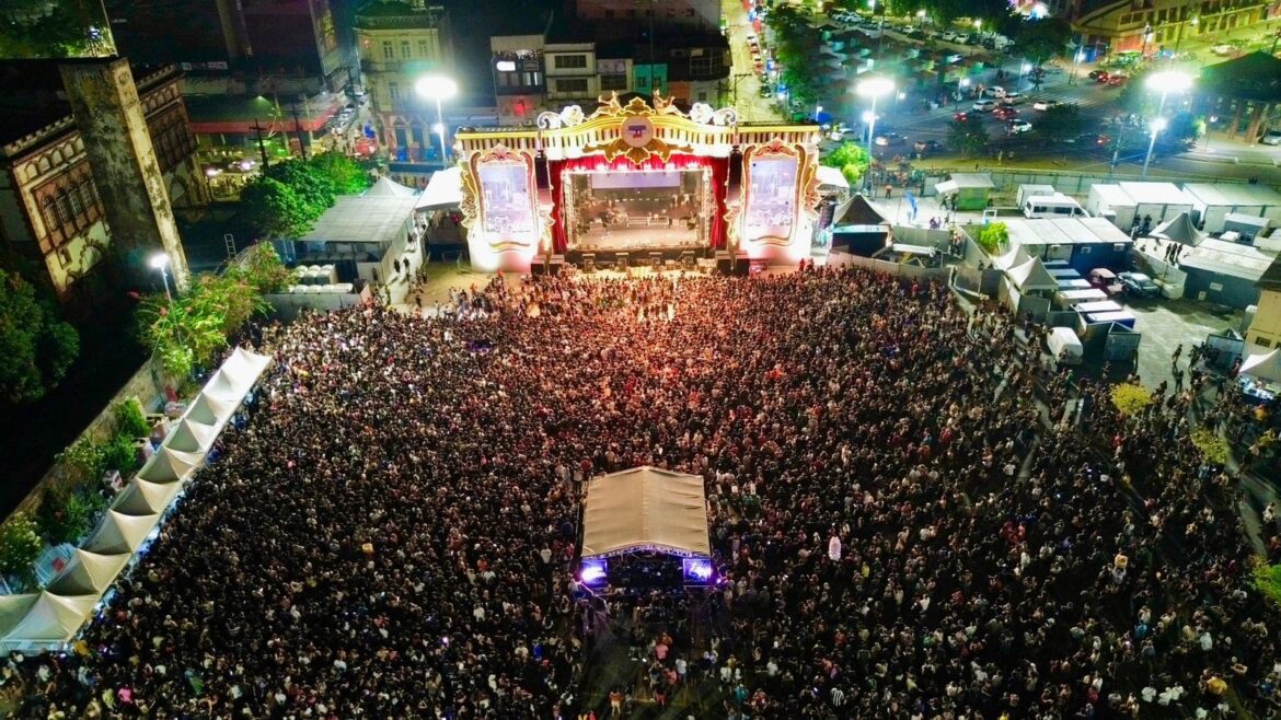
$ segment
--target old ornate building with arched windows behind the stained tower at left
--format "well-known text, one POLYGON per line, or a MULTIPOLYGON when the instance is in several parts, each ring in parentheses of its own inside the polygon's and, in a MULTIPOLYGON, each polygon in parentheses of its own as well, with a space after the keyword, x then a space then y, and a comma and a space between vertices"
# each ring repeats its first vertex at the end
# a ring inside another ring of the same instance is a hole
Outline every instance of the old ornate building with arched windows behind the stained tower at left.
MULTIPOLYGON (((132 68, 150 143, 175 211, 208 204, 195 160, 182 76, 173 65, 132 68)), ((40 268, 73 315, 86 316, 118 278, 99 272, 113 243, 108 208, 53 60, 0 63, 0 241, 40 268)))

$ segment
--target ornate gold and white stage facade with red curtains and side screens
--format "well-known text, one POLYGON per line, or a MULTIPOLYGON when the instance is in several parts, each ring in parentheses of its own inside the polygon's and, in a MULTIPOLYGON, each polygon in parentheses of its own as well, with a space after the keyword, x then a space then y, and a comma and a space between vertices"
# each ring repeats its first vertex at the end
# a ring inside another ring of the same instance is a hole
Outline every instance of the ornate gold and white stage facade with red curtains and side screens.
POLYGON ((471 264, 797 264, 819 217, 819 140, 817 126, 687 114, 657 94, 543 113, 537 128, 460 129, 471 264))

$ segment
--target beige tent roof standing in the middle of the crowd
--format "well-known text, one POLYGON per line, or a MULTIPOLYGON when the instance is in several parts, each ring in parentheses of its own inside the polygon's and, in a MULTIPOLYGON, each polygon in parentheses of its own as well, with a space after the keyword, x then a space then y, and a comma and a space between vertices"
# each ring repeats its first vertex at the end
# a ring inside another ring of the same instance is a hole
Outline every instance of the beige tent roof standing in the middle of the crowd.
POLYGON ((638 550, 711 553, 701 477, 643 466, 592 478, 583 511, 583 557, 638 550))

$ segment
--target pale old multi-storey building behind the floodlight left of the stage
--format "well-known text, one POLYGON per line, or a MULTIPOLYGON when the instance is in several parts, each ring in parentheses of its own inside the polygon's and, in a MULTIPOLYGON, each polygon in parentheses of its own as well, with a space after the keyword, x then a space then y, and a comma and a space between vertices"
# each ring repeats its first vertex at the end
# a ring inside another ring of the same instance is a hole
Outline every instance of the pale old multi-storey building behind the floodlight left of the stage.
POLYGON ((400 163, 439 161, 436 108, 414 85, 451 70, 448 13, 420 1, 374 3, 356 14, 356 44, 380 143, 400 163))

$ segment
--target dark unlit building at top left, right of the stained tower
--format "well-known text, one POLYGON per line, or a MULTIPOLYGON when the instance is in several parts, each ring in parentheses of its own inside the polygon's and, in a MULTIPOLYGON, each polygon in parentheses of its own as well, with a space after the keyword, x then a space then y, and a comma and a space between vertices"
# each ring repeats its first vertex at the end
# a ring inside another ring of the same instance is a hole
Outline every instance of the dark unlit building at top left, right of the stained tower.
POLYGON ((352 81, 330 0, 102 0, 122 55, 174 63, 192 95, 315 95, 352 81))

